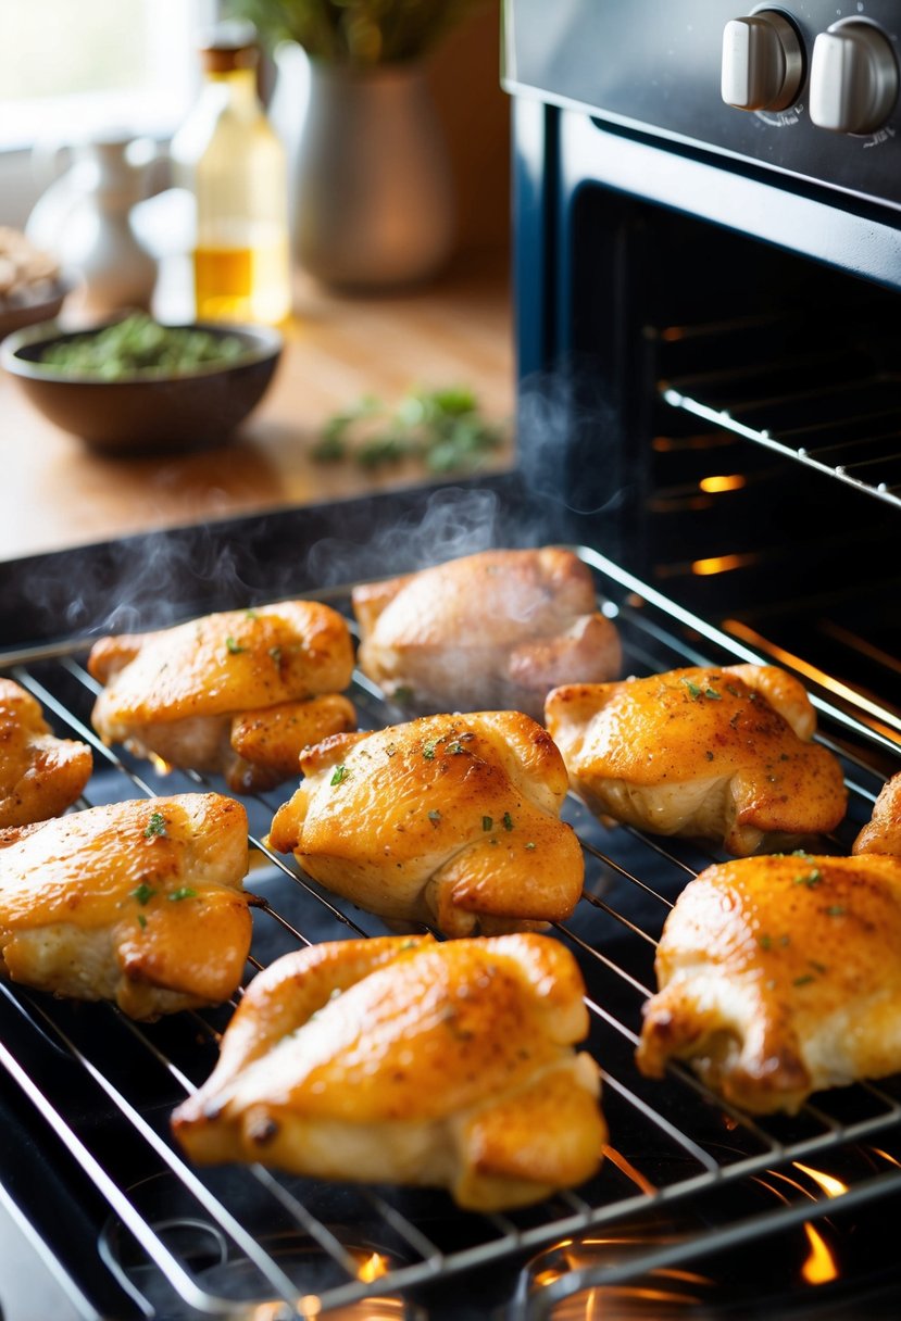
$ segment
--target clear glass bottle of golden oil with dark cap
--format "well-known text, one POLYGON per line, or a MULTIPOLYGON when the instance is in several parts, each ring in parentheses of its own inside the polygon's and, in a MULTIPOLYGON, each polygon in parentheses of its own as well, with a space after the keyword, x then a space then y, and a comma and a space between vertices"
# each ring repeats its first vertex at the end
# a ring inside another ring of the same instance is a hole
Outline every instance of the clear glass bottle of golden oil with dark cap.
POLYGON ((201 95, 172 141, 197 207, 197 318, 275 325, 291 313, 287 162, 256 91, 252 28, 221 24, 201 58, 201 95))

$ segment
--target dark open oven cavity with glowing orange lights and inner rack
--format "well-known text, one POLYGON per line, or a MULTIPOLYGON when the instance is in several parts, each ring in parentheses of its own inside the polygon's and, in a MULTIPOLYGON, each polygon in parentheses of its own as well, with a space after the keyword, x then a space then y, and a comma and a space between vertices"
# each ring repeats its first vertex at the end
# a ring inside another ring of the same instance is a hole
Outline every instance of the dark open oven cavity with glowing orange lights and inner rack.
POLYGON ((643 583, 901 731, 898 292, 593 184, 560 223, 555 330, 521 386, 531 485, 643 583))

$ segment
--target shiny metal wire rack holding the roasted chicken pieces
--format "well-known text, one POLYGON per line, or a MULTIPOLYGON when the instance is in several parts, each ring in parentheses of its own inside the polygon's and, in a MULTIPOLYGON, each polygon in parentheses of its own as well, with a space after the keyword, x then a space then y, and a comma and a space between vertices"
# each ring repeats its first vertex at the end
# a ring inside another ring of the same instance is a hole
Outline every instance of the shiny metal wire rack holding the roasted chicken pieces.
MULTIPOLYGON (((605 609, 617 616, 628 672, 757 659, 601 556, 580 553, 597 575, 605 609)), ((350 616, 349 589, 325 598, 350 616)), ((92 745, 96 769, 81 806, 219 789, 196 773, 164 777, 103 746, 90 727, 98 686, 85 668, 86 651, 74 641, 0 655, 57 732, 92 745)), ((362 675, 351 696, 363 728, 403 719, 362 675)), ((848 818, 824 848, 847 852, 898 746, 816 700, 820 737, 843 758, 851 789, 848 818)), ((378 919, 264 847, 272 812, 289 793, 284 786, 247 801, 247 888, 262 900, 248 978, 299 945, 384 933, 378 919)), ((25 1115, 33 1168, 53 1156, 62 1181, 83 1185, 81 1238, 73 1229, 67 1243, 69 1231, 59 1234, 52 1215, 40 1223, 21 1173, 30 1166, 16 1166, 16 1178, 15 1153, 0 1159, 0 1173, 22 1215, 38 1222, 79 1316, 288 1321, 333 1309, 353 1316, 366 1300, 370 1318, 456 1318, 470 1314, 466 1281, 486 1272, 499 1291, 498 1312, 551 1316, 589 1285, 637 1279, 901 1188, 901 1078, 822 1094, 791 1119, 761 1122, 724 1106, 679 1066, 663 1082, 638 1074, 633 1052, 663 921, 687 881, 719 855, 631 828, 605 830, 575 799, 564 815, 585 853, 585 890, 555 934, 585 976, 588 1049, 602 1069, 612 1147, 591 1184, 538 1207, 462 1214, 431 1190, 325 1185, 262 1166, 197 1170, 176 1149, 169 1115, 210 1073, 233 1007, 143 1025, 110 1005, 0 987, 9 1098, 3 1106, 25 1115), (828 1178, 809 1178, 811 1162, 828 1178), (779 1180, 781 1192, 761 1207, 748 1193, 764 1176, 779 1180), (715 1215, 700 1210, 723 1194, 715 1215), (543 1275, 530 1269, 554 1244, 649 1215, 667 1225, 675 1218, 678 1232, 650 1234, 628 1259, 613 1254, 587 1264, 568 1259, 567 1268, 543 1275)), ((487 1299, 485 1292, 473 1316, 487 1316, 487 1299)))

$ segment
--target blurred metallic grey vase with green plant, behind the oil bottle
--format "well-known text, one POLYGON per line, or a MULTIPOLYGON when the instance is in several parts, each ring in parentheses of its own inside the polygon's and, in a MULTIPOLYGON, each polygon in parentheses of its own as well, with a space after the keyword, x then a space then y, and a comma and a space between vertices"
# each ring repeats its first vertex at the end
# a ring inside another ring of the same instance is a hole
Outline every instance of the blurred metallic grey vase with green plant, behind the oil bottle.
POLYGON ((383 289, 452 251, 453 185, 428 54, 485 0, 234 0, 273 53, 299 264, 383 289))

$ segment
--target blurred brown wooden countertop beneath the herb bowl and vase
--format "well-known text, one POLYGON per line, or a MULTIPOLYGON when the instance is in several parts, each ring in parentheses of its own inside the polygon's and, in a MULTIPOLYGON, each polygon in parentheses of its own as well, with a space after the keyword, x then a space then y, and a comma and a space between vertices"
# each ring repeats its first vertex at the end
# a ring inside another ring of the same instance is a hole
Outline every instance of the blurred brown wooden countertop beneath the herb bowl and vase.
MULTIPOLYGON (((108 458, 46 421, 0 373, 0 559, 131 532, 345 499, 433 481, 407 462, 375 474, 310 458, 322 423, 365 394, 465 384, 495 420, 513 415, 509 258, 461 255, 436 283, 382 297, 300 279, 268 394, 229 444, 196 454, 108 458)), ((490 470, 510 466, 510 450, 490 470)))

